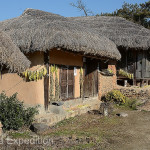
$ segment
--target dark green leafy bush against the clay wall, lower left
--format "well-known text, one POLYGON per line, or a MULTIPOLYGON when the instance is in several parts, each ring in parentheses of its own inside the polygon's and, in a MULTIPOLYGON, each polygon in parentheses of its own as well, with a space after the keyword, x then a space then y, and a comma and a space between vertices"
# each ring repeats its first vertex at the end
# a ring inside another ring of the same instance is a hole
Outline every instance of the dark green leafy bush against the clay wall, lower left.
POLYGON ((10 97, 7 97, 4 92, 0 94, 0 121, 4 130, 29 127, 37 113, 37 107, 26 109, 23 102, 17 99, 17 93, 10 97))

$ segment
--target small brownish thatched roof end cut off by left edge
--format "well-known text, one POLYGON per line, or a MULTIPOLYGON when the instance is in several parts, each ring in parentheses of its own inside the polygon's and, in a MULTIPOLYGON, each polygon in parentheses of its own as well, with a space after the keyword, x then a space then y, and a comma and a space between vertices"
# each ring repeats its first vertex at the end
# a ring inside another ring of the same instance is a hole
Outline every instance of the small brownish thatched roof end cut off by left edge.
POLYGON ((30 61, 2 31, 0 31, 0 64, 5 64, 10 71, 15 72, 24 71, 30 66, 30 61))

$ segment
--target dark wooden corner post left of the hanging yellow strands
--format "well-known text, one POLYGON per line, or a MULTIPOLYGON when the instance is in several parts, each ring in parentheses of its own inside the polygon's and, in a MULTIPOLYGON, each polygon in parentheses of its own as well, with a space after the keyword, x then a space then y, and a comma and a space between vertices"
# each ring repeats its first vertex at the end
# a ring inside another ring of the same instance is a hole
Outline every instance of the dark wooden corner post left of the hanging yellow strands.
POLYGON ((48 110, 49 104, 49 51, 44 52, 44 64, 47 69, 47 75, 44 78, 44 106, 45 110, 48 110))

